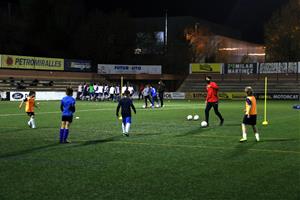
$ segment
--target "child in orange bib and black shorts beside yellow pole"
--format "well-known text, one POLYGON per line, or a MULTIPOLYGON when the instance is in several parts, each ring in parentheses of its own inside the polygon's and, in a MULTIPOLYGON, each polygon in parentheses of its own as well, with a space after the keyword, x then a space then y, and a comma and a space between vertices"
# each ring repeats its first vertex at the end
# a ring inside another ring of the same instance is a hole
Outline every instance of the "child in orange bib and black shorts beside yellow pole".
POLYGON ((245 109, 245 115, 242 123, 242 131, 243 131, 243 137, 240 139, 240 142, 247 141, 247 133, 246 133, 246 125, 251 125, 253 132, 255 134, 255 139, 258 142, 259 141, 259 134, 256 128, 256 99, 253 96, 253 89, 251 87, 246 87, 245 92, 247 94, 246 97, 246 109, 245 109))

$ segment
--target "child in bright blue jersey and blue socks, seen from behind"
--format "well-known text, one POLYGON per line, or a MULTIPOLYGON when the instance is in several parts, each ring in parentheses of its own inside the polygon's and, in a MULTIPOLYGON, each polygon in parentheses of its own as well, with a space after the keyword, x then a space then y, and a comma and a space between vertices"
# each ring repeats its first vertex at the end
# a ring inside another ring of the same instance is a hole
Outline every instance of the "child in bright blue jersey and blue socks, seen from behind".
POLYGON ((60 127, 60 136, 59 142, 60 143, 69 143, 68 136, 69 136, 69 127, 73 121, 73 113, 75 112, 75 99, 73 96, 73 89, 67 88, 66 94, 60 104, 60 110, 62 112, 62 119, 61 119, 61 127, 60 127))

